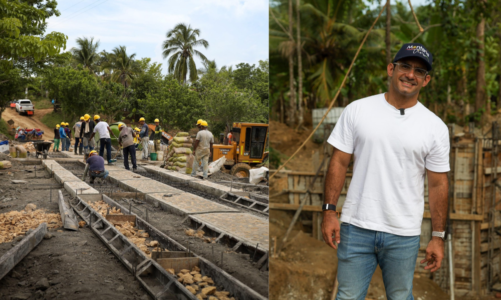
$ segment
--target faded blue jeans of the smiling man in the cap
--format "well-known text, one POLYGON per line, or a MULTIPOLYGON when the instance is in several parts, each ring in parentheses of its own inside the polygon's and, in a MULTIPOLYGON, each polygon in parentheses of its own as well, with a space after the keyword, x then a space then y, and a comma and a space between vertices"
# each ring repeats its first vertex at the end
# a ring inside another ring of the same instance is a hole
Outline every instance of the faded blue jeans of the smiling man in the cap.
POLYGON ((341 223, 337 300, 363 300, 379 264, 388 300, 413 300, 419 235, 402 236, 341 223))

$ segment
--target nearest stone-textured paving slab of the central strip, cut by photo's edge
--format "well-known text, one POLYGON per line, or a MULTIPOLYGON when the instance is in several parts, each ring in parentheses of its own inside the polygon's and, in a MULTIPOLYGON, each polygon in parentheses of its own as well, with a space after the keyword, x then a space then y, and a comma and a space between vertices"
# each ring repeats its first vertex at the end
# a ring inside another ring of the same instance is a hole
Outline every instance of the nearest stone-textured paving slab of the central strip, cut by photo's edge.
POLYGON ((236 239, 241 239, 250 244, 268 250, 270 237, 270 226, 268 220, 248 213, 204 213, 190 217, 197 218, 202 223, 220 228, 222 231, 231 234, 236 239))

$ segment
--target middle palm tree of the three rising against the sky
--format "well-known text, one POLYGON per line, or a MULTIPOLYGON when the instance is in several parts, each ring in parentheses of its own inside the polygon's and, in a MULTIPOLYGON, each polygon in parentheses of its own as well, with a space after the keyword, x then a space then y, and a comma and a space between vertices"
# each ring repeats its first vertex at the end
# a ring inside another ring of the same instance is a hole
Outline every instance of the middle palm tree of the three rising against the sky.
POLYGON ((141 72, 137 61, 134 60, 136 53, 127 54, 126 46, 113 48, 108 55, 108 61, 103 61, 101 69, 105 72, 105 78, 112 82, 117 82, 125 87, 129 87, 134 76, 141 72), (106 75, 108 72, 108 75, 106 75))

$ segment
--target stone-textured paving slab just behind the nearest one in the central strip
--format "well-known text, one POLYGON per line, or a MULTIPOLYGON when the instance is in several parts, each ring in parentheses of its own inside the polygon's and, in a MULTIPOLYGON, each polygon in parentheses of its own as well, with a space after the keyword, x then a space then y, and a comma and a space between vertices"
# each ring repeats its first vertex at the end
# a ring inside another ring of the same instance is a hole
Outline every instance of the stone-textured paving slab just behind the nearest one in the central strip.
POLYGON ((188 193, 173 193, 172 196, 164 196, 165 192, 146 194, 146 201, 157 202, 165 211, 177 215, 199 214, 210 212, 239 212, 236 209, 204 199, 200 196, 188 193))

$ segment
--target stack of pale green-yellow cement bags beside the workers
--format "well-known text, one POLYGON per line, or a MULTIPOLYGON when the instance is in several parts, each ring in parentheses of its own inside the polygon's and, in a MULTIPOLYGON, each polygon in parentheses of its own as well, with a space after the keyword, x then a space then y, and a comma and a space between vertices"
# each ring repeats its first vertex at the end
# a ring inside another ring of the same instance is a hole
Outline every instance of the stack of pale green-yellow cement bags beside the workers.
MULTIPOLYGON (((164 168, 173 170, 173 171, 181 171, 186 172, 187 167, 187 158, 193 153, 192 148, 192 139, 189 136, 188 132, 179 132, 174 136, 172 140, 169 141, 169 150, 167 157, 165 158, 165 166, 164 168)), ((191 172, 191 165, 189 165, 191 172)))

